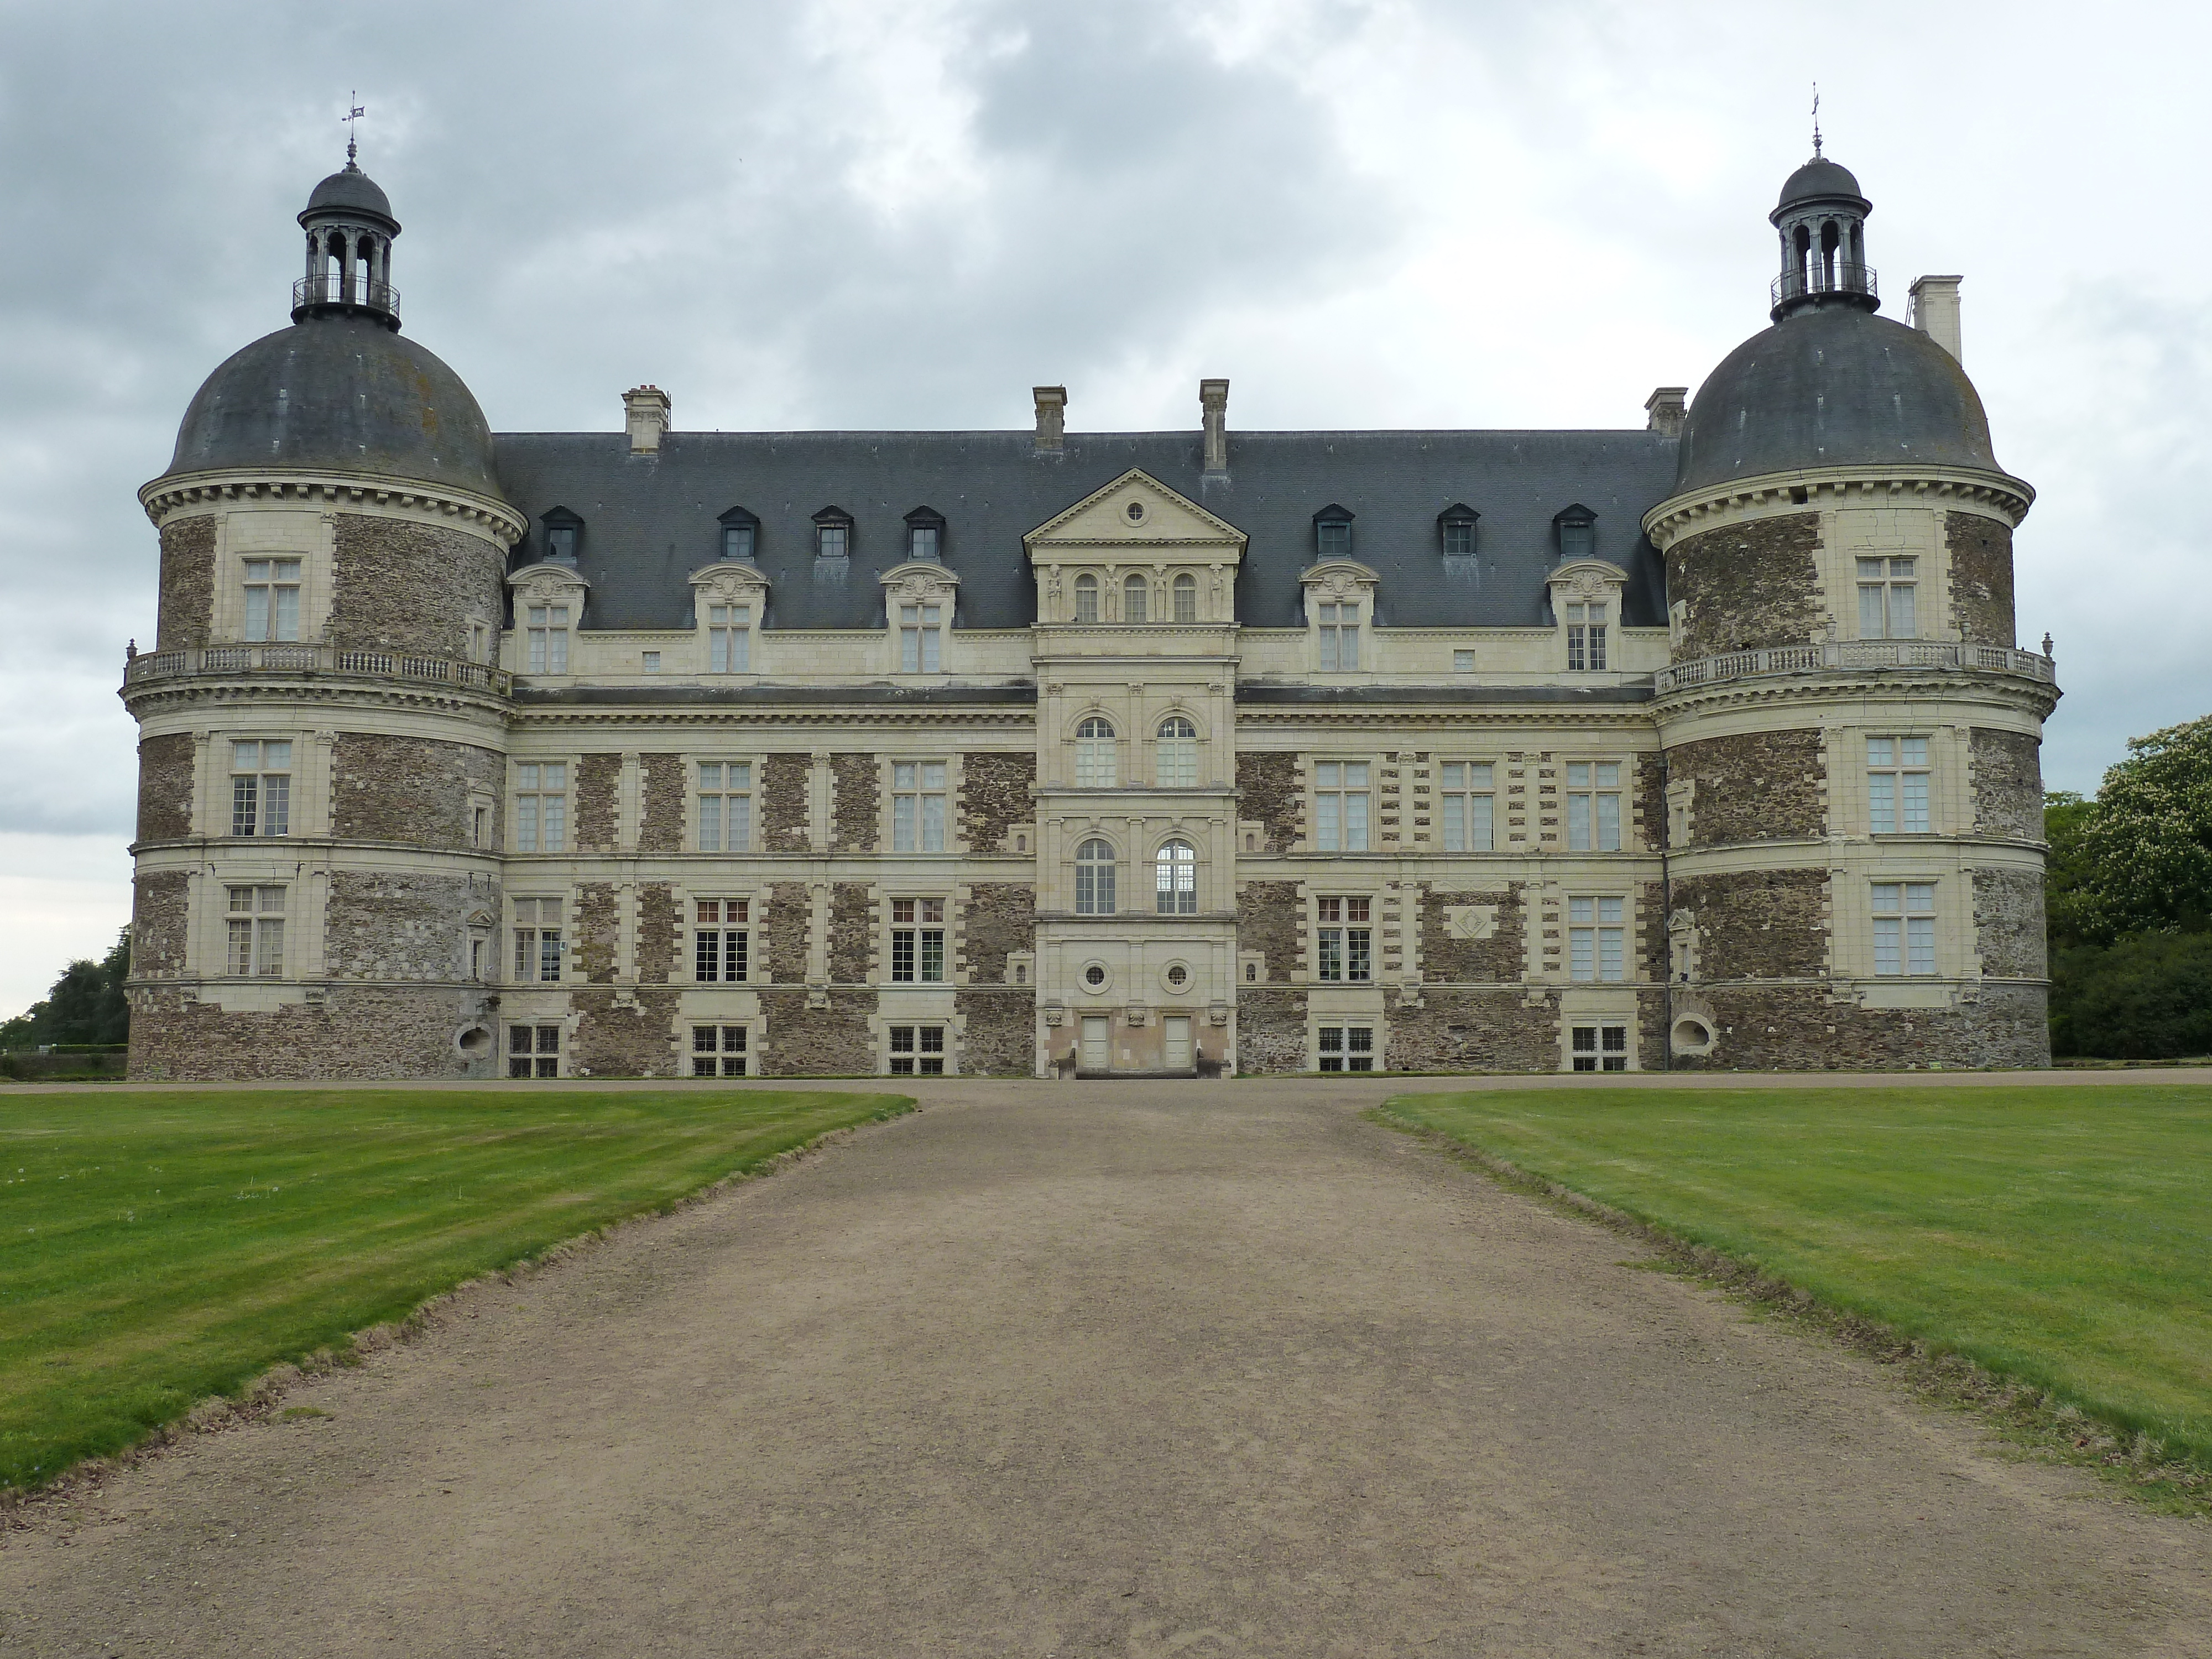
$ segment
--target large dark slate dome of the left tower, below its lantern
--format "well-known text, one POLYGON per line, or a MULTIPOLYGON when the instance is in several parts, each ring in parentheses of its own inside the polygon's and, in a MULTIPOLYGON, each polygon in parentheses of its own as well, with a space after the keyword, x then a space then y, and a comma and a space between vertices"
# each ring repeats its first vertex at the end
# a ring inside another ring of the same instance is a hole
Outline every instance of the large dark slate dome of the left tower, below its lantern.
POLYGON ((500 498, 491 429, 469 387, 367 316, 310 316, 208 376, 164 478, 226 467, 372 473, 500 498))

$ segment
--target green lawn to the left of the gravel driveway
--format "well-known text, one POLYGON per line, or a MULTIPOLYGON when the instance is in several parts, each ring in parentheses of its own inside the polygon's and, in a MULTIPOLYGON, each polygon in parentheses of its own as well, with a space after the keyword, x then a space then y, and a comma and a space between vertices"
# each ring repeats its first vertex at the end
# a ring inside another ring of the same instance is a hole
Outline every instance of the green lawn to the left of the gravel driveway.
POLYGON ((0 1095, 0 1486, 898 1095, 0 1095))

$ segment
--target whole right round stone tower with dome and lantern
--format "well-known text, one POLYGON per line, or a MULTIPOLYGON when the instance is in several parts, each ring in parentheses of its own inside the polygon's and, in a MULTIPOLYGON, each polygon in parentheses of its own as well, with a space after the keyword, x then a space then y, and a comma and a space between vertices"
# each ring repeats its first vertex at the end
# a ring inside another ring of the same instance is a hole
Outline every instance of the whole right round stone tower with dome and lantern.
MULTIPOLYGON (((2042 723, 2013 529, 1951 349, 1880 316, 1871 204, 1790 175, 1772 325, 1690 403, 1666 557, 1672 1066, 2048 1064, 2042 723)), ((1955 332, 1947 330, 1955 343, 1955 332)))

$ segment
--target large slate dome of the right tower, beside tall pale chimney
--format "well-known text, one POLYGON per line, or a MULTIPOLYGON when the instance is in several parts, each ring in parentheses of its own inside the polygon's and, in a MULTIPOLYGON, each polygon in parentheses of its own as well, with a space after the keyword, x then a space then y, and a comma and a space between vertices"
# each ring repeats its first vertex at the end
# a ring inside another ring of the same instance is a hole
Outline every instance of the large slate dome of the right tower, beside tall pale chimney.
POLYGON ((1856 305, 1785 316, 1690 400, 1674 493, 1812 467, 2002 473, 1973 380, 1916 327, 1856 305))

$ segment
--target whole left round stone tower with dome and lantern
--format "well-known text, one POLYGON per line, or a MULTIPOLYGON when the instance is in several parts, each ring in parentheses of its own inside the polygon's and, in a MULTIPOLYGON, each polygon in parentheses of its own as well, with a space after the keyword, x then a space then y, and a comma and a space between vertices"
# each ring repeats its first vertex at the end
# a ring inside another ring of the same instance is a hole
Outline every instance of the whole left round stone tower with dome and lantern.
POLYGON ((292 325, 208 376, 139 491, 131 1075, 491 1075, 524 524, 476 398, 400 334, 400 226, 352 146, 299 223, 292 325))

